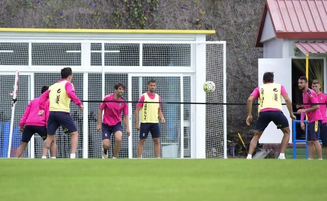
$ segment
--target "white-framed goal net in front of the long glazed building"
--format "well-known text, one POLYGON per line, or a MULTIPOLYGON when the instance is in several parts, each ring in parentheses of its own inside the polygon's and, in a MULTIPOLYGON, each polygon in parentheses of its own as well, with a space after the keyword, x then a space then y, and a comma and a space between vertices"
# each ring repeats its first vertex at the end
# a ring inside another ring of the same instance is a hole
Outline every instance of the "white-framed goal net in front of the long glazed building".
MULTIPOLYGON (((205 94, 202 86, 197 86, 194 55, 198 43, 93 43, 89 42, 88 54, 83 51, 81 43, 0 43, 0 67, 19 65, 20 76, 17 104, 12 132, 12 154, 20 144, 21 132, 19 121, 29 101, 41 95, 44 85, 50 86, 61 79, 60 69, 71 67, 77 97, 83 101, 84 112, 80 112, 71 102, 71 116, 79 132, 77 157, 101 158, 101 132, 96 131, 98 107, 107 94, 114 93, 114 85, 122 82, 126 85, 123 96, 129 104, 129 125, 132 135, 127 137, 126 126, 122 118, 123 138, 119 158, 136 157, 139 131, 135 128, 135 109, 140 96, 148 91, 147 83, 156 80, 156 93, 161 97, 161 110, 166 123, 159 124, 161 129, 161 157, 190 158, 195 157, 195 147, 202 148, 206 158, 226 157, 226 67, 225 43, 203 43, 205 56, 200 64, 205 71, 204 81, 215 83, 216 89, 205 94), (29 49, 31 56, 29 56, 29 49), (12 52, 4 52, 12 50, 12 52), (88 57, 87 57, 88 56, 88 57), (84 60, 89 67, 84 67, 84 60), (29 65, 30 64, 30 65, 29 65), (38 69, 38 70, 36 70, 38 69), (138 71, 138 69, 143 69, 138 71), (161 70, 166 69, 166 70, 161 70), (205 96, 205 101, 195 102, 196 96, 205 96), (206 104, 205 104, 206 103, 206 104), (205 104, 204 110, 198 105, 205 104), (205 119, 205 126, 199 125, 195 117, 205 119), (196 127, 203 126, 196 133, 196 127), (205 139, 205 144, 196 142, 196 136, 205 139), (201 147, 202 146, 202 147, 201 147)), ((9 135, 8 126, 11 119, 11 104, 15 72, 0 71, 1 116, 1 154, 7 157, 9 135), (8 139, 7 139, 8 138, 8 139)), ((122 115, 123 117, 123 115, 122 115)), ((57 157, 65 158, 70 154, 70 136, 61 127, 56 131, 57 157)), ((113 156, 114 135, 108 156, 113 156)), ((42 153, 43 140, 35 134, 22 157, 39 158, 42 153)), ((142 157, 155 157, 154 145, 149 133, 142 157)))

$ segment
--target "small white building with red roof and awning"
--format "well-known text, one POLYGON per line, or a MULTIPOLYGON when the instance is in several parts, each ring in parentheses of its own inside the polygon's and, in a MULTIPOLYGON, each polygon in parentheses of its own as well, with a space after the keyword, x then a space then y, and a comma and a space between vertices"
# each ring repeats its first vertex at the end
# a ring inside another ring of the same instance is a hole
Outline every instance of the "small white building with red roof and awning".
MULTIPOLYGON (((266 0, 255 46, 263 47, 263 59, 258 61, 259 85, 265 72, 274 72, 275 82, 284 85, 293 103, 300 103, 297 80, 306 74, 308 55, 308 86, 318 79, 321 91, 326 92, 327 0, 266 0)), ((288 116, 286 106, 283 111, 288 116)), ((292 125, 290 118, 289 123, 292 125)), ((280 143, 282 136, 271 123, 259 142, 280 143)))

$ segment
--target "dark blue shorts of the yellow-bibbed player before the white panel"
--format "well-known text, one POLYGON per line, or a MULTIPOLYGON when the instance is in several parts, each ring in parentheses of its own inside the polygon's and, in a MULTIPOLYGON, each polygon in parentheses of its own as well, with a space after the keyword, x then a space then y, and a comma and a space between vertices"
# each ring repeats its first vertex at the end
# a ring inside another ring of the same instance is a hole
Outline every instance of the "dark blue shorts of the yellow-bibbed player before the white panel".
POLYGON ((271 121, 274 122, 277 129, 286 128, 289 126, 288 120, 282 111, 264 111, 260 112, 259 114, 256 130, 264 131, 271 121))

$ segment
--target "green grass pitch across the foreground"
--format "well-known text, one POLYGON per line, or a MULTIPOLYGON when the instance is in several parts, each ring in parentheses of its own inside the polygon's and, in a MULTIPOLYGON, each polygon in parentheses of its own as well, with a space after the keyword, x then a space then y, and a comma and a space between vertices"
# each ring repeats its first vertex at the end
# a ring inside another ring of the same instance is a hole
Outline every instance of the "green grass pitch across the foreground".
POLYGON ((1 159, 1 200, 320 200, 327 160, 1 159), (320 187, 319 187, 320 186, 320 187))

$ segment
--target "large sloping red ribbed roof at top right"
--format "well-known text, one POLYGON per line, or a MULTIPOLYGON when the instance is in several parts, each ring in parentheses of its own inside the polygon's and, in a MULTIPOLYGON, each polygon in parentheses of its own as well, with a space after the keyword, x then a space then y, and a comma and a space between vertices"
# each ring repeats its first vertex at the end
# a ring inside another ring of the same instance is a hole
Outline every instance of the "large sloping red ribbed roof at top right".
POLYGON ((260 39, 267 11, 276 38, 327 39, 327 0, 266 0, 256 47, 262 47, 260 39))

